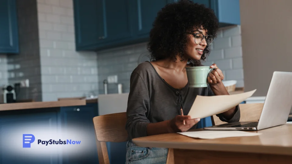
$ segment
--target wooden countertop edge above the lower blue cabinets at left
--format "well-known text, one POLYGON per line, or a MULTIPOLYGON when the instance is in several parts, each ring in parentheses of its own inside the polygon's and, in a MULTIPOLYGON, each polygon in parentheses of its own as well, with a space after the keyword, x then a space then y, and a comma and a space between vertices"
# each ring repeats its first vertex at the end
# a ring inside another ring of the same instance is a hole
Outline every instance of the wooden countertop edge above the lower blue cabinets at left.
POLYGON ((45 102, 26 102, 26 103, 9 103, 0 104, 0 111, 10 111, 19 109, 36 109, 36 108, 55 108, 86 105, 86 100, 66 100, 66 101, 45 101, 45 102))

